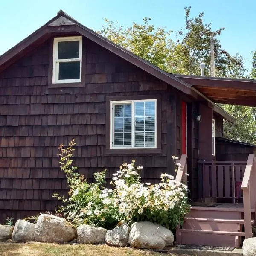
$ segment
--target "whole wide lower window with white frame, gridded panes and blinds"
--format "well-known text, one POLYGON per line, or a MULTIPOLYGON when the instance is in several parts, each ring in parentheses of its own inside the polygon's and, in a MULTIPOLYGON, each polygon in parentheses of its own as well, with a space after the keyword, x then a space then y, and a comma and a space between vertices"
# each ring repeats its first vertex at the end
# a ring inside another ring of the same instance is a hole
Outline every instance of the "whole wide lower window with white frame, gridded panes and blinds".
POLYGON ((110 148, 157 148, 156 99, 110 103, 110 148))

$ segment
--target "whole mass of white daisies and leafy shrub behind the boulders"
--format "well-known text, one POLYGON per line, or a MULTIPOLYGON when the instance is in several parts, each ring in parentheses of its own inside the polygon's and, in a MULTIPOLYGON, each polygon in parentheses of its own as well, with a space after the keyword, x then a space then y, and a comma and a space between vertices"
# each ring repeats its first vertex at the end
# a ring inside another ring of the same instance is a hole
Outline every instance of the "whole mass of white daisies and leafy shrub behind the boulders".
POLYGON ((187 186, 176 183, 169 174, 161 174, 158 184, 142 183, 140 171, 142 166, 124 163, 113 174, 110 184, 113 189, 105 188, 105 174, 95 173, 94 183, 87 183, 82 175, 72 166, 73 140, 67 149, 60 146, 61 169, 67 175, 70 187, 68 199, 54 196, 64 203, 58 212, 64 214, 73 224, 90 224, 111 228, 120 220, 128 224, 134 221, 151 221, 171 230, 183 224, 183 218, 189 211, 187 186))

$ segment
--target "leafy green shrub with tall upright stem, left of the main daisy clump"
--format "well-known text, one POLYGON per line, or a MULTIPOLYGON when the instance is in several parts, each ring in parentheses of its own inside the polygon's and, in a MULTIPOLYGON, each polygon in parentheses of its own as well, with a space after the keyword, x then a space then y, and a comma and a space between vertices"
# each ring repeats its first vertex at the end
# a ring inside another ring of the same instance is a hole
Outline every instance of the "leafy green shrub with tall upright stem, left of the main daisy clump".
POLYGON ((63 214, 76 226, 90 224, 106 228, 114 227, 119 219, 118 211, 111 206, 105 209, 101 198, 102 190, 105 189, 103 185, 106 183, 106 170, 94 173, 95 182, 89 184, 83 175, 76 172, 78 168, 73 166, 72 156, 75 145, 73 140, 67 148, 63 145, 59 147, 61 170, 66 174, 70 190, 69 198, 53 195, 63 202, 63 205, 57 208, 57 212, 63 214), (84 215, 85 211, 86 215, 84 215))

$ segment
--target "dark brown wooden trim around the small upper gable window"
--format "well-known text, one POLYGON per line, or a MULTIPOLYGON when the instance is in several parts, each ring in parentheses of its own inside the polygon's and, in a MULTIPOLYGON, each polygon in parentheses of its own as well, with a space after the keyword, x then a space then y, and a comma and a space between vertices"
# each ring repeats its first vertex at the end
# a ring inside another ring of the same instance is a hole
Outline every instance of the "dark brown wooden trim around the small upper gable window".
MULTIPOLYGON (((74 35, 74 36, 77 36, 77 35, 74 35)), ((73 83, 72 82, 71 83, 52 83, 54 38, 51 39, 51 42, 49 45, 48 88, 68 88, 68 87, 84 87, 85 86, 86 43, 85 43, 85 40, 83 40, 83 39, 82 39, 81 82, 73 82, 73 83)))

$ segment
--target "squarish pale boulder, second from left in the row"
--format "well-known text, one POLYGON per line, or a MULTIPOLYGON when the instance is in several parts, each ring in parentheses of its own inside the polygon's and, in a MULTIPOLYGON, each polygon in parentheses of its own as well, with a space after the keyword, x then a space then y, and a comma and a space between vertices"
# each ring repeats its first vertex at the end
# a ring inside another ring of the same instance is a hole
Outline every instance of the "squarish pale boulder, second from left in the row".
POLYGON ((35 224, 24 220, 17 220, 12 232, 15 242, 35 241, 35 224))

